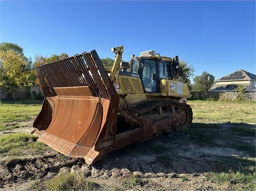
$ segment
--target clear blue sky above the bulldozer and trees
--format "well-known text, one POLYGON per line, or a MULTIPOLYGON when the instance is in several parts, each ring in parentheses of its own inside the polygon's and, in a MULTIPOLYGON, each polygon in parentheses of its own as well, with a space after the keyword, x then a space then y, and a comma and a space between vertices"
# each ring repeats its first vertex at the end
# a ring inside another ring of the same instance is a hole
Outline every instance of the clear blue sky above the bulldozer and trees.
POLYGON ((1 0, 0 42, 33 58, 95 49, 114 59, 110 48, 123 45, 128 61, 153 49, 218 79, 238 69, 256 73, 255 10, 255 0, 1 0))

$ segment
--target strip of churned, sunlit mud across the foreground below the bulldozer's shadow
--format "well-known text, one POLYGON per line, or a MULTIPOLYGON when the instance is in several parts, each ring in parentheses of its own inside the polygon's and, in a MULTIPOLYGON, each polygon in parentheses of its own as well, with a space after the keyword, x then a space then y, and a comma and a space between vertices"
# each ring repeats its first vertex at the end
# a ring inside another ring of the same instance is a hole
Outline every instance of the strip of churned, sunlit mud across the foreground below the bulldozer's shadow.
MULTIPOLYGON (((13 160, 8 164, 1 164, 1 184, 0 189, 3 190, 33 190, 31 184, 38 181, 43 184, 44 181, 53 178, 61 172, 76 172, 90 180, 96 181, 100 185, 108 187, 118 186, 124 179, 131 177, 151 179, 151 186, 144 187, 143 190, 152 190, 152 186, 157 189, 159 186, 164 190, 172 188, 186 188, 181 183, 180 177, 186 177, 187 180, 193 180, 191 188, 205 188, 209 186, 199 185, 202 179, 207 179, 207 173, 203 174, 176 174, 163 172, 159 173, 142 173, 141 171, 130 171, 126 168, 105 169, 98 167, 99 164, 90 166, 83 159, 70 159, 60 154, 36 158, 33 160, 13 160)), ((138 170, 138 169, 137 169, 138 170)), ((209 181, 209 183, 211 183, 209 181)), ((191 184, 191 182, 189 183, 191 184)), ((103 186, 104 187, 104 186, 103 186)))

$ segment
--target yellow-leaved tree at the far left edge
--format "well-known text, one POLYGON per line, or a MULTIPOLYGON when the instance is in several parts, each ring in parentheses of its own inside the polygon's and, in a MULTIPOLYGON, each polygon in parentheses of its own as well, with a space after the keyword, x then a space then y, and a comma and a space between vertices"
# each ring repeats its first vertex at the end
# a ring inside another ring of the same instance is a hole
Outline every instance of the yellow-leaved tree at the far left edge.
POLYGON ((23 54, 13 50, 0 50, 0 86, 9 96, 20 86, 29 85, 31 70, 23 54))

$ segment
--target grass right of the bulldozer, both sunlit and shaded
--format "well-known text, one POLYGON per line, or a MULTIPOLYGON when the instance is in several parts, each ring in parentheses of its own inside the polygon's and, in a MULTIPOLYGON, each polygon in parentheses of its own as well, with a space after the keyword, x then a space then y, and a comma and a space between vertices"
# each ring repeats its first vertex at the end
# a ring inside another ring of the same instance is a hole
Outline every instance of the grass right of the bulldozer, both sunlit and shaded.
POLYGON ((255 190, 256 147, 245 140, 246 136, 253 139, 256 135, 256 102, 190 100, 188 104, 193 110, 193 123, 191 128, 183 130, 187 134, 185 139, 208 146, 219 144, 251 156, 219 156, 214 160, 218 168, 210 172, 209 179, 225 184, 230 190, 255 190))

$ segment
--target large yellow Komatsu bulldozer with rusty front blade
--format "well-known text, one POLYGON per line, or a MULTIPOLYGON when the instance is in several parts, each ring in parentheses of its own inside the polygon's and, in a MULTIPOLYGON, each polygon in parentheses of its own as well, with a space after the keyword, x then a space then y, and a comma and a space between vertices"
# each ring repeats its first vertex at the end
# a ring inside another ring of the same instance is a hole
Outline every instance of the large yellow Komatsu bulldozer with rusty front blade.
POLYGON ((150 50, 124 62, 123 49, 111 48, 111 69, 95 50, 36 66, 45 96, 33 122, 38 141, 92 165, 112 150, 191 126, 178 56, 150 50))

